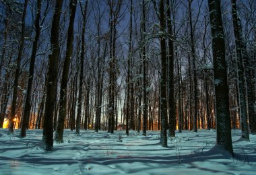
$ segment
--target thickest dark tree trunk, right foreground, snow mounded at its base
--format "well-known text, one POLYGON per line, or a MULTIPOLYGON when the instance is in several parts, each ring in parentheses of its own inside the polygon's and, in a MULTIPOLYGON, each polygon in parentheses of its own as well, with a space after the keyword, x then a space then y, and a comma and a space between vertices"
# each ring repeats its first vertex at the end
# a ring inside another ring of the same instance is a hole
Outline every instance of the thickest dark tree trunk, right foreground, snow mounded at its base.
POLYGON ((225 41, 222 27, 222 14, 220 11, 220 0, 208 0, 208 5, 212 32, 214 86, 216 94, 216 145, 234 156, 230 128, 225 41))

